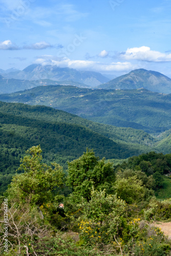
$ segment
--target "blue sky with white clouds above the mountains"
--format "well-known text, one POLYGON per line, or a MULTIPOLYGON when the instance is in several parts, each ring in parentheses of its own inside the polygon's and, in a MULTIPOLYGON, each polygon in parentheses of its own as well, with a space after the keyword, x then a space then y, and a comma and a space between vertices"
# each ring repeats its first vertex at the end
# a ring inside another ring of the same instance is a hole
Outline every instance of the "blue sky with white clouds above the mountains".
POLYGON ((38 63, 171 77, 170 0, 0 0, 0 69, 38 63))

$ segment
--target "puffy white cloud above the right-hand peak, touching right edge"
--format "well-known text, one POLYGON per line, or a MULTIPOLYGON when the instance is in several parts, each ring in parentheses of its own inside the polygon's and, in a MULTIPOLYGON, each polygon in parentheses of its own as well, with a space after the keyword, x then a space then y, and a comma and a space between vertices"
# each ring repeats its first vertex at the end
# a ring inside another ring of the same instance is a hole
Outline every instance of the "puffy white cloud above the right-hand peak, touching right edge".
POLYGON ((161 53, 158 51, 153 51, 149 47, 134 47, 127 48, 126 52, 119 54, 122 59, 125 60, 142 60, 148 62, 163 62, 171 61, 171 54, 161 53))

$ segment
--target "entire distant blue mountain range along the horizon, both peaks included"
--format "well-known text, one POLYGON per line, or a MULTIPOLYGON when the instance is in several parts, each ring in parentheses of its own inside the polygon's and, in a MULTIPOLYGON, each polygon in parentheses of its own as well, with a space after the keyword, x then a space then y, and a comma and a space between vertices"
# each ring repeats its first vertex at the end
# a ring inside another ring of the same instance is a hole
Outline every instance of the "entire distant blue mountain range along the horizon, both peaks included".
POLYGON ((144 88, 152 92, 171 93, 171 79, 156 71, 137 69, 110 80, 112 77, 114 75, 104 76, 97 72, 33 64, 22 71, 14 68, 6 71, 0 70, 0 94, 31 89, 42 83, 45 83, 45 85, 62 84, 105 90, 144 88), (6 87, 7 82, 8 86, 6 87))

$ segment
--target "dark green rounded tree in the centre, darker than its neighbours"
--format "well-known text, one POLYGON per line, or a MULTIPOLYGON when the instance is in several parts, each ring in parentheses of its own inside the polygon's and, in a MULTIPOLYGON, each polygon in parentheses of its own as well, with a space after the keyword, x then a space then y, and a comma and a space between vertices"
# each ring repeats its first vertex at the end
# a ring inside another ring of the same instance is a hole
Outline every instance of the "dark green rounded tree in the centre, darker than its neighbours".
POLYGON ((91 199, 92 187, 95 189, 106 189, 111 193, 112 183, 115 181, 112 163, 105 163, 105 158, 99 160, 93 150, 83 153, 78 159, 68 163, 68 185, 73 188, 74 193, 91 199))

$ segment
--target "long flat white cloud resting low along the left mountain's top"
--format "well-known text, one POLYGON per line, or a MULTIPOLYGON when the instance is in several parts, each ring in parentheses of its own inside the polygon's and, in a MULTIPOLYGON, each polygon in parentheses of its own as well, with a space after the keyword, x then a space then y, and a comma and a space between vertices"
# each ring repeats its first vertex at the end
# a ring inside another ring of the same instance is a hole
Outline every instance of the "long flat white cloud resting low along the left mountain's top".
POLYGON ((137 66, 130 62, 112 62, 103 63, 90 60, 71 60, 69 58, 58 58, 49 55, 44 55, 36 59, 35 63, 46 65, 54 65, 60 68, 73 68, 77 70, 93 70, 96 72, 116 71, 123 72, 136 69, 137 66))

